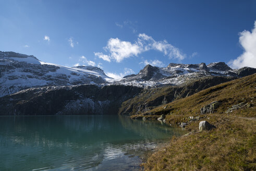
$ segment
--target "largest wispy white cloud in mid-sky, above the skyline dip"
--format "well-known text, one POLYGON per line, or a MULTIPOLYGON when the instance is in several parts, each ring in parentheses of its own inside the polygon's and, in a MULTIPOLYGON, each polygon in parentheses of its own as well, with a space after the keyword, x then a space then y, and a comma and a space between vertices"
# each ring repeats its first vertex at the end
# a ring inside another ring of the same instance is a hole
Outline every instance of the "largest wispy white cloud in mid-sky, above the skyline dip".
POLYGON ((125 58, 138 56, 139 54, 150 50, 160 51, 169 58, 176 58, 179 60, 186 57, 186 55, 182 54, 177 47, 169 44, 166 40, 155 41, 151 36, 144 33, 138 35, 138 40, 135 41, 135 43, 121 41, 118 38, 111 38, 108 40, 104 50, 108 51, 109 55, 105 55, 101 52, 94 52, 94 55, 108 62, 115 60, 117 63, 125 58))

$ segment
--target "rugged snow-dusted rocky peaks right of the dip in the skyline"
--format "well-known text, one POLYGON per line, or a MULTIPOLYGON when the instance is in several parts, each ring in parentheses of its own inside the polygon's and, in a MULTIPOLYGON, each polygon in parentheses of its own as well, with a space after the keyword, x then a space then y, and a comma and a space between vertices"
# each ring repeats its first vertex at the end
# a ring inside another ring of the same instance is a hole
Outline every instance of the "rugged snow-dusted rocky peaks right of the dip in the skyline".
POLYGON ((130 86, 161 86, 164 84, 179 85, 191 79, 199 79, 208 76, 243 77, 254 74, 255 68, 243 67, 231 69, 223 62, 200 64, 174 64, 167 67, 145 66, 137 75, 125 76, 114 84, 125 84, 130 86))

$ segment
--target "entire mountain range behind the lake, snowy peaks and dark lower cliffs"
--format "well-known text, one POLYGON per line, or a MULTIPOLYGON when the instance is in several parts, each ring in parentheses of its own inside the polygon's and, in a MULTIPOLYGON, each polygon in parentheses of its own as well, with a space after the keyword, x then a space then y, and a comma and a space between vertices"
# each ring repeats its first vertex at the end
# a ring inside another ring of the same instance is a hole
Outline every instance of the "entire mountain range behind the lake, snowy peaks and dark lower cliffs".
POLYGON ((115 80, 95 66, 66 67, 0 51, 0 115, 136 114, 254 73, 223 62, 170 63, 115 80))

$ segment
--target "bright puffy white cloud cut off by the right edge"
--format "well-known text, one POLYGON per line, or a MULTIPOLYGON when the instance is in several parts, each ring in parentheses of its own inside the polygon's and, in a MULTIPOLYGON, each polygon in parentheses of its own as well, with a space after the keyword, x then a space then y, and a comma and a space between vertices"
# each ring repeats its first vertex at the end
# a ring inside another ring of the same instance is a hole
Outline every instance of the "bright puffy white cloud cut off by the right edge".
POLYGON ((253 67, 256 68, 256 21, 252 31, 244 30, 239 33, 239 42, 244 52, 235 60, 230 60, 228 65, 231 68, 253 67))

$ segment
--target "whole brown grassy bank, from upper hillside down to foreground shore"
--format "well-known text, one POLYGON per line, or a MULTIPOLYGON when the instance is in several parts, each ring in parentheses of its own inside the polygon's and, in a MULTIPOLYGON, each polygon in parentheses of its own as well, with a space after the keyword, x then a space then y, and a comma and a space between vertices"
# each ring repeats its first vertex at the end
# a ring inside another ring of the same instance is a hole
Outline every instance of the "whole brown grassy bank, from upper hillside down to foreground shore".
POLYGON ((200 115, 199 120, 190 122, 187 129, 194 133, 173 138, 166 148, 148 158, 143 164, 144 169, 256 170, 256 121, 240 118, 256 116, 255 98, 254 74, 152 109, 153 115, 167 114, 167 123, 177 124, 187 122, 189 116, 199 116, 200 108, 212 101, 223 102, 214 114, 200 115), (252 107, 225 113, 228 107, 240 102, 251 103, 252 107), (207 120, 217 128, 197 132, 201 120, 207 120))

